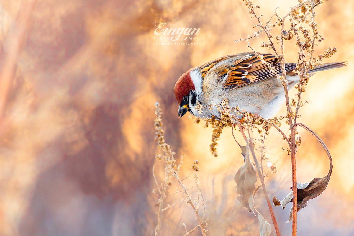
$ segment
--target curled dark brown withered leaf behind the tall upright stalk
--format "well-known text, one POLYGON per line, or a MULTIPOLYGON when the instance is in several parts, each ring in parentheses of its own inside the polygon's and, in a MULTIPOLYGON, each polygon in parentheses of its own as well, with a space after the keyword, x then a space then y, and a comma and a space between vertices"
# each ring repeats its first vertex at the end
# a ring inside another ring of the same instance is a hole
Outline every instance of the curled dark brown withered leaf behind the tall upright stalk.
MULTIPOLYGON (((315 178, 311 180, 309 183, 297 183, 297 211, 300 211, 302 208, 307 206, 307 202, 312 198, 318 197, 325 189, 327 188, 328 182, 331 178, 332 174, 332 159, 330 159, 330 169, 328 174, 323 178, 315 178)), ((290 188, 292 190, 292 187, 290 188)), ((285 208, 286 204, 292 202, 293 194, 292 191, 284 197, 283 200, 279 201, 279 199, 274 196, 273 203, 275 206, 281 206, 283 209, 285 208)), ((289 220, 285 223, 289 223, 292 220, 292 208, 290 209, 289 213, 289 220)))

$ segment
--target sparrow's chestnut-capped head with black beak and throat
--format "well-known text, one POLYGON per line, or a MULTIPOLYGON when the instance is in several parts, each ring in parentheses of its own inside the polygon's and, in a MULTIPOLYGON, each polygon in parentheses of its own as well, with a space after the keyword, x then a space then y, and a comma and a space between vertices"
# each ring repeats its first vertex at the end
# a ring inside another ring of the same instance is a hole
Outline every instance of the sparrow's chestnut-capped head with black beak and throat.
POLYGON ((196 103, 197 94, 190 71, 188 70, 181 75, 175 85, 174 92, 179 105, 178 117, 184 116, 187 111, 192 113, 190 106, 195 106, 196 103))

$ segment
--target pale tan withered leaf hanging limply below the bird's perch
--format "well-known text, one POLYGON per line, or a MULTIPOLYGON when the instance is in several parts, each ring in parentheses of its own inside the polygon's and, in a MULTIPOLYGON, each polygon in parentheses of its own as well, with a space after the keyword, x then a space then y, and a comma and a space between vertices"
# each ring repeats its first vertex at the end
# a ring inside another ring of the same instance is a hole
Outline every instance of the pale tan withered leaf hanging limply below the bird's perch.
POLYGON ((241 205, 246 207, 246 209, 251 212, 250 204, 252 201, 253 191, 256 189, 255 184, 257 181, 256 170, 254 169, 252 162, 250 160, 249 144, 247 143, 246 150, 242 150, 242 155, 244 156, 245 164, 242 165, 237 173, 235 174, 235 182, 237 184, 238 200, 241 205))

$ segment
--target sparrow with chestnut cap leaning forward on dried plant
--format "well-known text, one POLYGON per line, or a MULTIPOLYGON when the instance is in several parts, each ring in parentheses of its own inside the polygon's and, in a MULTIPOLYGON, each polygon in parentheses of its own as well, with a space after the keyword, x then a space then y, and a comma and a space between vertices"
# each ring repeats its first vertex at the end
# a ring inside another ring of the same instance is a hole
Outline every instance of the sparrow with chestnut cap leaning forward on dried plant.
MULTIPOLYGON (((258 54, 281 75, 280 64, 274 55, 258 54)), ((326 63, 309 70, 309 74, 345 65, 345 62, 326 63)), ((292 72, 295 67, 295 63, 285 63, 289 90, 299 82, 299 76, 292 72)), ((217 108, 210 109, 210 105, 220 104, 226 99, 232 107, 238 106, 268 119, 276 115, 285 101, 281 81, 250 52, 221 57, 189 69, 176 82, 174 92, 179 104, 179 117, 187 111, 201 118, 219 117, 217 108), (203 107, 201 110, 196 109, 198 103, 203 107)))

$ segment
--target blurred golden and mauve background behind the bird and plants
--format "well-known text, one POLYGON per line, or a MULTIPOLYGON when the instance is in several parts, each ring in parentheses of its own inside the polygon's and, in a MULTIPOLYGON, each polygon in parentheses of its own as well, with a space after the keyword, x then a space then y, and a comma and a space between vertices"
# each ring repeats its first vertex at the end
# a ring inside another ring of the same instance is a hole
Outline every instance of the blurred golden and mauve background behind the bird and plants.
MULTIPOLYGON (((275 8, 284 15, 297 1, 253 3, 265 22, 275 8)), ((354 235, 353 9, 354 2, 337 0, 316 10, 325 38, 316 54, 337 47, 325 62, 349 66, 314 75, 303 94, 310 103, 299 122, 325 141, 334 168, 327 189, 299 211, 298 235, 354 235)), ((0 235, 153 235, 156 101, 166 142, 185 154, 182 175, 199 160, 209 235, 257 235, 256 217, 236 199, 233 175, 243 161, 231 130, 223 131, 219 156, 212 157, 211 128, 178 119, 173 95, 187 69, 247 51, 235 40, 251 35, 255 23, 241 0, 1 0, 0 235), (154 44, 155 22, 200 28, 197 45, 154 44)), ((259 46, 265 41, 260 35, 251 44, 265 51, 259 46)), ((286 60, 297 60, 294 42, 285 46, 286 60)), ((266 184, 270 197, 282 198, 291 186, 290 156, 271 133, 266 155, 278 173, 266 184)), ((325 176, 325 152, 301 128, 299 135, 298 182, 325 176)), ((272 224, 264 199, 256 205, 272 224)), ((165 211, 161 235, 183 235, 182 223, 192 229, 189 208, 180 202, 165 211)), ((283 222, 290 206, 274 210, 282 235, 289 235, 291 225, 283 222)))

